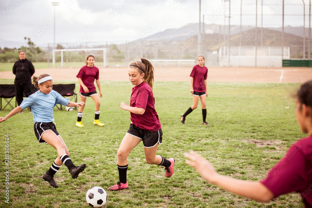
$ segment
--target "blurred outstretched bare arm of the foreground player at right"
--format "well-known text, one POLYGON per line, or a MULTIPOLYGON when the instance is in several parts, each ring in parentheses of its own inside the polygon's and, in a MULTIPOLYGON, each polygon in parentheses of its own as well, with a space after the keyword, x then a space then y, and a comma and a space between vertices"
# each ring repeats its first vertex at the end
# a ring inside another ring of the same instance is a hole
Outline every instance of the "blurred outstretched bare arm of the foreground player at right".
POLYGON ((209 183, 221 188, 257 201, 270 201, 274 198, 273 193, 262 183, 253 181, 242 181, 227 176, 219 175, 214 168, 202 156, 191 151, 185 153, 184 157, 190 159, 185 162, 196 168, 197 172, 209 183))

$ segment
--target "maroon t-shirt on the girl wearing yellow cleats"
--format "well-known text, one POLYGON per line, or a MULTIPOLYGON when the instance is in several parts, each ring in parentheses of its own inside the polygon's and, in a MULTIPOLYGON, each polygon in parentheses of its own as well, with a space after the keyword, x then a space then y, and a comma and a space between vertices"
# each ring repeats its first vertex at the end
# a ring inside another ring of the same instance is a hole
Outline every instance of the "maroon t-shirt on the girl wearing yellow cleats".
MULTIPOLYGON (((81 78, 83 84, 89 89, 89 92, 93 92, 94 90, 96 90, 94 86, 94 79, 99 79, 99 68, 97 68, 96 66, 89 67, 85 65, 81 67, 76 77, 81 78)), ((85 93, 81 85, 79 92, 85 93)))

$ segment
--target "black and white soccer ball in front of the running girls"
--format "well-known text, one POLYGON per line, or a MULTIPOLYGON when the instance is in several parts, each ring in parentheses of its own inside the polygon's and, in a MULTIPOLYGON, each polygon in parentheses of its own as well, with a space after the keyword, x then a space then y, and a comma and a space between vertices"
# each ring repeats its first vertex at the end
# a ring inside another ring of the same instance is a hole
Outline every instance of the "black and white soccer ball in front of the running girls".
POLYGON ((103 188, 95 186, 87 191, 85 199, 91 207, 101 207, 107 201, 107 194, 103 188))

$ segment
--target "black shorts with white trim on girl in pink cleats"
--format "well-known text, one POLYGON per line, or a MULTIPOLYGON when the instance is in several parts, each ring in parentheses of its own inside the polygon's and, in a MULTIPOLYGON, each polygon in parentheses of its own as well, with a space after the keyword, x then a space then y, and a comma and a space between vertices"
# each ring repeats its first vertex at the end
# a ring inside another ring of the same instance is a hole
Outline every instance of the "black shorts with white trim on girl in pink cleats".
POLYGON ((161 128, 158 131, 151 132, 131 123, 127 133, 141 139, 145 148, 155 147, 157 143, 161 144, 163 140, 161 128))

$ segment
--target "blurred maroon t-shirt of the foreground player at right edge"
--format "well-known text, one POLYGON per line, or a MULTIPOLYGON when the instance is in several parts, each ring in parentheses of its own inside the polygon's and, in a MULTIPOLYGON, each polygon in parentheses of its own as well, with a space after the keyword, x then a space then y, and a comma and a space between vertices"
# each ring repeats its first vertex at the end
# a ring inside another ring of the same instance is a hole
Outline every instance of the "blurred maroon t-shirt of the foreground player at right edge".
POLYGON ((305 207, 312 207, 312 136, 294 143, 261 183, 275 197, 299 192, 305 207))

